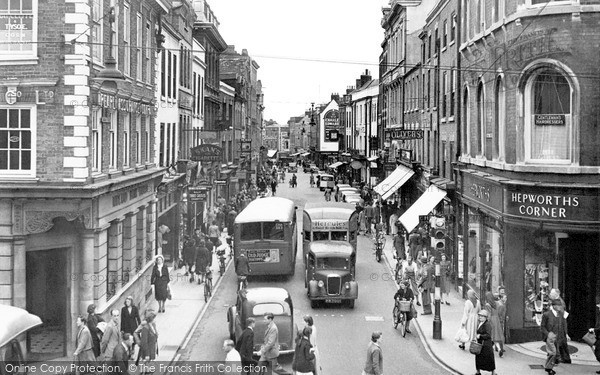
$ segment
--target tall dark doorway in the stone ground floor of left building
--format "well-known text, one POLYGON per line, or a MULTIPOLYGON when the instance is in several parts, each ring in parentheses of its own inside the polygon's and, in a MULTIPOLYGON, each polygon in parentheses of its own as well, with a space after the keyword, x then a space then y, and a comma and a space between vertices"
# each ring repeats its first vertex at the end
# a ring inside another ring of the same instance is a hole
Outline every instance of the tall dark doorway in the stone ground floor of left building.
POLYGON ((27 311, 43 324, 30 332, 31 360, 66 356, 67 340, 67 249, 26 253, 27 311))

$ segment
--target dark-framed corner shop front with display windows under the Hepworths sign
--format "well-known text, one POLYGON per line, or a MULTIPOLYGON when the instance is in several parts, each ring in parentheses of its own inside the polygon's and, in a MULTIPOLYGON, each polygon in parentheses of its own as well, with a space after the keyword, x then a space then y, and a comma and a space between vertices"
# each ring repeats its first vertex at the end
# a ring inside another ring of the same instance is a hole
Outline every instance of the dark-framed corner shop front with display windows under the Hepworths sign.
POLYGON ((539 339, 559 289, 571 337, 596 324, 600 302, 598 187, 505 180, 461 170, 458 258, 465 292, 508 295, 510 342, 539 339))

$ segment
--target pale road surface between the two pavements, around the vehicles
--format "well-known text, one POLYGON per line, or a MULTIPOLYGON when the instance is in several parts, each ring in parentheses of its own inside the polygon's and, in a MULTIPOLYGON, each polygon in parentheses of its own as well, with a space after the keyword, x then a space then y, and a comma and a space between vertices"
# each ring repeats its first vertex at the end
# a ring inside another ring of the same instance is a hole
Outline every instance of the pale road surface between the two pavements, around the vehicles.
MULTIPOLYGON (((317 188, 309 187, 308 174, 300 171, 298 187, 290 189, 286 182, 278 187, 277 195, 293 199, 298 206, 298 228, 302 223, 302 207, 307 201, 324 199, 317 188)), ((287 176, 288 178, 290 175, 287 176)), ((287 289, 294 303, 294 320, 302 326, 302 317, 313 316, 318 330, 320 352, 320 374, 360 373, 366 358, 366 347, 373 331, 383 332, 384 373, 386 374, 440 374, 443 369, 436 366, 428 356, 416 330, 403 338, 392 326, 392 296, 396 291, 384 261, 377 263, 372 251, 371 240, 359 237, 357 257, 357 281, 359 298, 354 309, 330 304, 312 309, 304 288, 304 270, 301 247, 296 260, 296 272, 292 278, 255 277, 249 287, 279 286, 287 289)), ((180 350, 179 360, 221 361, 223 340, 228 338, 226 313, 235 303, 235 272, 230 267, 213 298, 206 314, 193 332, 191 340, 180 350)), ((291 356, 280 358, 280 362, 291 373, 291 356)))

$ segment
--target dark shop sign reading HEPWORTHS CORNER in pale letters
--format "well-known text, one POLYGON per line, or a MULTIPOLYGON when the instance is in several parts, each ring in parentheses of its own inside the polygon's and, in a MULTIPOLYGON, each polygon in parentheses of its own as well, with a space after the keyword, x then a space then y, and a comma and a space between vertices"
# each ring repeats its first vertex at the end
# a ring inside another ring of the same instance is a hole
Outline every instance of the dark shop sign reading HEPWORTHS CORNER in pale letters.
POLYGON ((600 219, 598 194, 594 193, 512 187, 506 190, 506 213, 534 220, 597 222, 600 219))

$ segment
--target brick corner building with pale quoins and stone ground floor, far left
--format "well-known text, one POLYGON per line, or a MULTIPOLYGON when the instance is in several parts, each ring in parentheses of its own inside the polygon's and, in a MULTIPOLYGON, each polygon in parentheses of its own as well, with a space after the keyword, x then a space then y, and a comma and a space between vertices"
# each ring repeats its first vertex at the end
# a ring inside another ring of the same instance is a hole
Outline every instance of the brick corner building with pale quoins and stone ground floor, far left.
POLYGON ((0 45, 0 301, 42 318, 30 358, 62 357, 89 304, 152 302, 156 30, 171 3, 17 4, 0 9, 22 25, 0 45), (117 85, 98 80, 109 57, 117 85))

